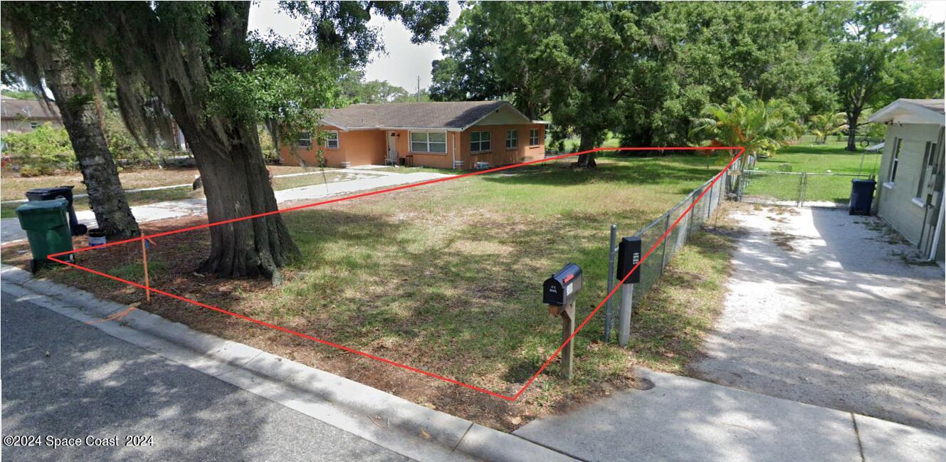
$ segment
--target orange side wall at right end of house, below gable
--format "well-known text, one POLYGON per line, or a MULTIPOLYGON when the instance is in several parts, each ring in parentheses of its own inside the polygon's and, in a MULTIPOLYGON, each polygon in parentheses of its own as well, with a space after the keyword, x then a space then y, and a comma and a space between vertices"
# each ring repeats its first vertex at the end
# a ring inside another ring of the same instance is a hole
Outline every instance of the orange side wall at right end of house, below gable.
POLYGON ((457 160, 464 161, 464 169, 473 169, 477 162, 488 162, 490 167, 517 164, 545 157, 545 125, 474 125, 460 133, 459 142, 457 160), (538 129, 539 144, 535 146, 529 146, 531 129, 538 129), (510 130, 516 130, 518 133, 518 147, 514 150, 506 149, 506 132, 510 130), (470 133, 473 132, 490 133, 488 152, 470 151, 470 133))

